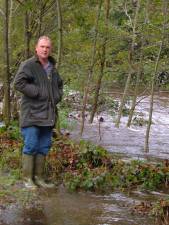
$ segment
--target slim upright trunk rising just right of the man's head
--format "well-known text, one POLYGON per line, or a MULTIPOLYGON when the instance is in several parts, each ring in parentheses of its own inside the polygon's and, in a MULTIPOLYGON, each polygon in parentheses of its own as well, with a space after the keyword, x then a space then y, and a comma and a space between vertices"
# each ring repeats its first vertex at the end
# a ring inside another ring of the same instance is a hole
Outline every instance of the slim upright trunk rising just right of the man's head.
POLYGON ((61 64, 62 58, 62 45, 63 45, 63 29, 62 29, 62 11, 60 0, 56 0, 57 14, 58 14, 58 55, 57 55, 57 69, 61 64))

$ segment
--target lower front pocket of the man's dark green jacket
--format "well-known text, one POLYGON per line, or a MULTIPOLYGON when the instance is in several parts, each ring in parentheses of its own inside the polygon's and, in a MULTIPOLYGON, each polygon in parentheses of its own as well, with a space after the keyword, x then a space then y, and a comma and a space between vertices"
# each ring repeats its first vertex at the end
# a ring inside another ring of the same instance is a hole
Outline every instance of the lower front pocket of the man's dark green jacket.
POLYGON ((32 102, 30 104, 30 117, 34 119, 47 119, 49 114, 48 102, 32 102))

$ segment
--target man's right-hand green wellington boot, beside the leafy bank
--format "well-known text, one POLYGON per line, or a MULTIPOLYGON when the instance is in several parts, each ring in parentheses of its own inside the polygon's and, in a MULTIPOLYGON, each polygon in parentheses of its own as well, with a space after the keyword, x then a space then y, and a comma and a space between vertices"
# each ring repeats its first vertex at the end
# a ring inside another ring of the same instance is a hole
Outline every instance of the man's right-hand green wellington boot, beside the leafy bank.
POLYGON ((45 156, 36 155, 35 158, 35 183, 42 188, 54 188, 52 183, 46 183, 44 179, 45 156))

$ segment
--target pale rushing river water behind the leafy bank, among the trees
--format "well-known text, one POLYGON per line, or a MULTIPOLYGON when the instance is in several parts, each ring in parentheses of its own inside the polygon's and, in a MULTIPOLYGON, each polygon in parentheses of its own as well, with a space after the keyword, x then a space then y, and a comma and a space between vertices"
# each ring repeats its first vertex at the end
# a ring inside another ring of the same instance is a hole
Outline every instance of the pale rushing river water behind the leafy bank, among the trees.
MULTIPOLYGON (((146 120, 149 115, 149 97, 141 97, 142 101, 136 107, 137 115, 146 120)), ((82 138, 102 145, 110 152, 122 154, 123 157, 142 159, 154 157, 169 159, 169 95, 156 95, 154 98, 153 124, 150 132, 149 153, 144 152, 146 126, 126 127, 128 117, 122 117, 119 128, 115 127, 115 116, 101 113, 104 122, 100 123, 95 118, 92 124, 87 119, 82 138), (101 140, 100 140, 101 137, 101 140)), ((78 139, 80 133, 80 121, 71 132, 73 139, 78 139)))

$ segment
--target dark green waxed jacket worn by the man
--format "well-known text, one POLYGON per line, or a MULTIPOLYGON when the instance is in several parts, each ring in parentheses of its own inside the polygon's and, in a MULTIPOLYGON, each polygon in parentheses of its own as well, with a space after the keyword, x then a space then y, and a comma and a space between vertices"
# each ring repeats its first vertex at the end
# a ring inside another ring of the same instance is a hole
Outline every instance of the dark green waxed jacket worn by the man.
POLYGON ((56 122, 56 105, 61 101, 63 82, 55 69, 47 76, 36 56, 21 63, 15 76, 14 87, 22 93, 20 109, 21 127, 54 126, 56 122))

